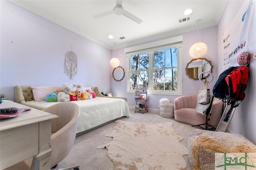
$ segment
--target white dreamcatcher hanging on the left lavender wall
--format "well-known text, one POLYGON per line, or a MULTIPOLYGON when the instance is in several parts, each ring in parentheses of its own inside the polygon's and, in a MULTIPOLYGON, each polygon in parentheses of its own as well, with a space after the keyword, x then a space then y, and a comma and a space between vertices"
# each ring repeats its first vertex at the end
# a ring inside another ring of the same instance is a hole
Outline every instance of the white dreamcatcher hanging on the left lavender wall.
POLYGON ((65 54, 65 72, 73 79, 78 69, 77 57, 73 51, 67 51, 65 54))

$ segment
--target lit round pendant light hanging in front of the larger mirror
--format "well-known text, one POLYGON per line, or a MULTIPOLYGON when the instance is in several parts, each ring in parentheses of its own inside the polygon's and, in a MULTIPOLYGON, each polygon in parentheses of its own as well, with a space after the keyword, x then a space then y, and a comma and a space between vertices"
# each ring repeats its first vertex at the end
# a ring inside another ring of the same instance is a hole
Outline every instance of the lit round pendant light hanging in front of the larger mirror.
MULTIPOLYGON (((202 20, 197 20, 197 25, 198 23, 202 21, 202 20)), ((197 42, 198 42, 198 29, 197 29, 197 42)), ((205 43, 202 43, 202 42, 198 42, 198 43, 195 43, 194 45, 192 45, 190 47, 190 50, 189 50, 189 54, 192 58, 194 59, 198 59, 198 58, 201 58, 202 56, 204 56, 205 54, 207 53, 207 46, 205 43)))

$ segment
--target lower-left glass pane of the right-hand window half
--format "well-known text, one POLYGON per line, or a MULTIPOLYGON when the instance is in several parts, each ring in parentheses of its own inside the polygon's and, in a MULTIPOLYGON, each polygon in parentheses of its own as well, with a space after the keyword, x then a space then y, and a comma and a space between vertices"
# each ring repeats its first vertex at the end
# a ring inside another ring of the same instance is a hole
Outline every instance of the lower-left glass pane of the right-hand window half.
POLYGON ((154 70, 153 90, 164 90, 164 70, 154 70))

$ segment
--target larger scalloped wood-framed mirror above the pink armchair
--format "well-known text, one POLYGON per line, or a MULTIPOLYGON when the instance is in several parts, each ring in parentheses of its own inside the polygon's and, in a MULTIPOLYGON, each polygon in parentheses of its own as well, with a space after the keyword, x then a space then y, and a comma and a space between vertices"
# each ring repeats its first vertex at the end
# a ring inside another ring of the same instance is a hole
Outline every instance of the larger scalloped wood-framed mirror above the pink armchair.
MULTIPOLYGON (((203 71, 212 72, 213 65, 206 58, 192 59, 186 66, 186 74, 189 78, 199 80, 198 76, 203 71)), ((201 79, 208 77, 208 73, 202 74, 201 79)))

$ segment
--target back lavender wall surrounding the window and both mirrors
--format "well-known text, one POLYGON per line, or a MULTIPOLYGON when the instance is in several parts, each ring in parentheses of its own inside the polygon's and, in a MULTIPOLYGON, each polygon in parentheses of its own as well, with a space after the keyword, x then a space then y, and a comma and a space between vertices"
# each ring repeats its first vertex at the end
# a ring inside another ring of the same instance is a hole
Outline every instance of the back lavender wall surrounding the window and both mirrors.
MULTIPOLYGON (((218 69, 217 69, 217 26, 208 27, 205 29, 199 30, 199 41, 206 43, 208 47, 208 52, 204 56, 206 59, 210 60, 213 65, 213 75, 214 80, 209 84, 209 87, 212 89, 217 78, 218 78, 218 69)), ((202 82, 199 80, 193 80, 186 75, 186 66, 192 58, 189 55, 190 47, 197 42, 198 34, 197 30, 190 31, 187 33, 179 34, 183 35, 183 43, 182 43, 182 95, 189 94, 197 94, 197 90, 201 88, 202 82)), ((178 36, 178 35, 175 35, 178 36)), ((174 37, 175 37, 174 36, 174 37)), ((169 37, 166 37, 169 38, 169 37)), ((112 53, 112 57, 114 57, 114 53, 112 53)), ((127 73, 126 66, 126 54, 124 53, 124 49, 116 49, 116 57, 120 60, 120 66, 122 66, 127 73)), ((116 82, 113 78, 111 79, 111 91, 112 93, 117 94, 118 96, 127 96, 128 97, 128 105, 135 106, 134 101, 134 93, 126 93, 126 76, 125 80, 116 82)), ((212 92, 211 92, 212 93, 212 92)), ((170 102, 174 102, 174 99, 177 98, 177 95, 151 95, 148 94, 149 101, 153 102, 153 105, 148 105, 148 108, 151 109, 159 109, 159 100, 162 98, 168 98, 170 102)))

